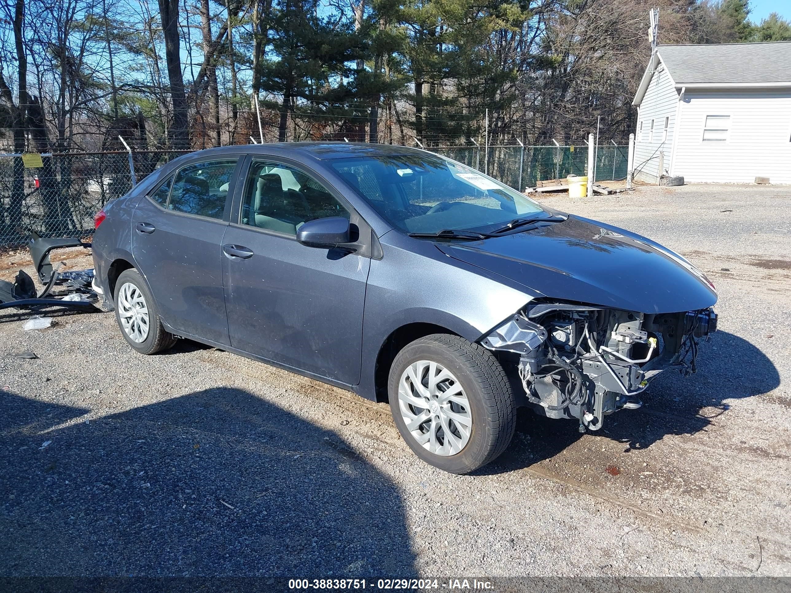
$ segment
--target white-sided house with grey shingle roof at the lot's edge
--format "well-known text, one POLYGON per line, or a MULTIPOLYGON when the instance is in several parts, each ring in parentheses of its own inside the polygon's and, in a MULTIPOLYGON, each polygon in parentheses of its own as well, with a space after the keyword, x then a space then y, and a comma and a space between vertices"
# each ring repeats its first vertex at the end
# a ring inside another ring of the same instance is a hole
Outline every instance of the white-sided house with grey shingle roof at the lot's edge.
POLYGON ((632 104, 635 179, 791 183, 791 42, 660 45, 632 104))

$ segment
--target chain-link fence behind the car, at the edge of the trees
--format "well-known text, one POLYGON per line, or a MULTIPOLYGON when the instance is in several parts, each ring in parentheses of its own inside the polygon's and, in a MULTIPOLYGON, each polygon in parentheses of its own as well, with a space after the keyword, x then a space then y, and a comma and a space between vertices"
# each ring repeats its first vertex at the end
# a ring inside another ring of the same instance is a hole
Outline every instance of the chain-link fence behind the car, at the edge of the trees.
MULTIPOLYGON (((588 146, 483 145, 426 147, 486 172, 520 191, 541 179, 588 173, 588 146)), ((25 244, 31 230, 41 236, 87 236, 93 215, 127 193, 134 176, 141 181, 188 151, 42 154, 41 166, 25 167, 23 157, 0 155, 0 247, 25 244)), ((600 146, 596 181, 626 177, 626 146, 600 146)), ((28 163, 30 164, 30 163, 28 163)), ((39 163, 36 163, 39 164, 39 163)))

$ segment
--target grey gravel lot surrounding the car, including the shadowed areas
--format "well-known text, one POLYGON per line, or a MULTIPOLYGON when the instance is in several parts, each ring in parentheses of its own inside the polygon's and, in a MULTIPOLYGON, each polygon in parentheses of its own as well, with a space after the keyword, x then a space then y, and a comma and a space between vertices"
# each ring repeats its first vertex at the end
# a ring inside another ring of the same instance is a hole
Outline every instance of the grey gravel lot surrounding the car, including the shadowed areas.
POLYGON ((697 375, 598 434, 520 414, 496 463, 453 476, 384 404, 193 342, 142 357, 108 313, 11 318, 0 576, 791 576, 791 187, 542 200, 709 274, 697 375))

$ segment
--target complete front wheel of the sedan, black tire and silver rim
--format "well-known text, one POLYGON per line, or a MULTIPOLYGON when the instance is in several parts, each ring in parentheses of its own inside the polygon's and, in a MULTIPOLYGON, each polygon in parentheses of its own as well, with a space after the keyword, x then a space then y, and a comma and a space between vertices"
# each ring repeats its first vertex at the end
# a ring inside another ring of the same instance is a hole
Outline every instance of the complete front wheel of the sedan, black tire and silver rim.
POLYGON ((433 334, 407 344, 390 368, 388 395, 395 425, 415 455, 452 474, 494 461, 513 438, 516 405, 505 371, 489 350, 459 336, 433 334), (415 405, 423 402, 426 408, 415 405))

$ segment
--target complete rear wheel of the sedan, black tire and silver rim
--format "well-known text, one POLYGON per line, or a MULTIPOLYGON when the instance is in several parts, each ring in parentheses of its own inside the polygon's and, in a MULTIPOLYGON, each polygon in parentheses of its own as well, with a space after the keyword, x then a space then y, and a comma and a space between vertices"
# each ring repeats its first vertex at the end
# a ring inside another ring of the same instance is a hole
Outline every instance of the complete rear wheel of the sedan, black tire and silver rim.
POLYGON ((123 270, 115 281, 115 321, 129 346, 141 354, 171 348, 176 336, 162 326, 157 304, 138 270, 123 270))

